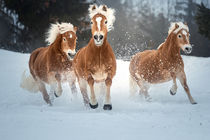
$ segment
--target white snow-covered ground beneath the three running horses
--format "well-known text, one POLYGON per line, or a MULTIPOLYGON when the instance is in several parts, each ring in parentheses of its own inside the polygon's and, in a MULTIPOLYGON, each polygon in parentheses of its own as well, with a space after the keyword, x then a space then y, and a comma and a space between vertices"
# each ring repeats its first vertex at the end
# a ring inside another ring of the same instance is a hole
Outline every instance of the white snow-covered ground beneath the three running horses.
POLYGON ((209 140, 210 58, 183 58, 197 105, 189 103, 180 84, 177 94, 171 96, 172 82, 153 85, 152 102, 137 95, 129 99, 129 62, 117 60, 111 88, 113 110, 104 111, 102 107, 85 108, 81 94, 74 97, 68 84, 63 85, 64 93, 52 107, 46 105, 40 93, 28 93, 19 87, 29 54, 0 50, 0 138, 209 140))

